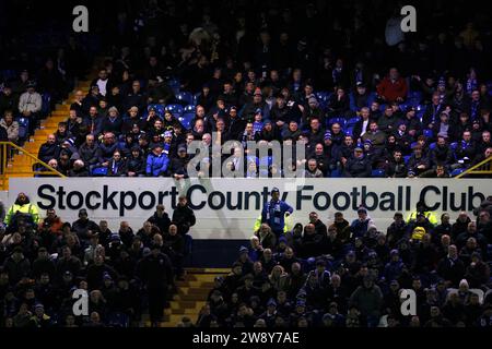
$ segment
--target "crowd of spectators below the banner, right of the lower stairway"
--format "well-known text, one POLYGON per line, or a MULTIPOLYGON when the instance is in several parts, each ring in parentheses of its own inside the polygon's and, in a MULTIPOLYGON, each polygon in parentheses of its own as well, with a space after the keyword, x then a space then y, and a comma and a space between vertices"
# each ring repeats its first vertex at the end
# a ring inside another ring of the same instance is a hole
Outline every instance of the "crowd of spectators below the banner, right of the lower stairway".
POLYGON ((263 224, 215 278, 196 326, 490 328, 491 198, 476 219, 438 221, 420 205, 407 218, 395 213, 386 231, 364 207, 328 226, 311 213, 280 238, 263 224), (403 289, 414 292, 414 314, 403 289))

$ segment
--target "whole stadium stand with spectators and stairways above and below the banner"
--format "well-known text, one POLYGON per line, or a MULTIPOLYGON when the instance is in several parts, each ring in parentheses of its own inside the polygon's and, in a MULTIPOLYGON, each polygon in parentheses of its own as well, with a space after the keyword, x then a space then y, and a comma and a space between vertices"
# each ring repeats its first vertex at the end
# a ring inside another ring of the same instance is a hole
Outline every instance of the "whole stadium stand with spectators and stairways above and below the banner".
MULTIPOLYGON (((266 164, 266 177, 301 167, 415 183, 490 161, 492 37, 480 16, 429 4, 429 33, 389 46, 384 1, 231 3, 144 1, 131 15, 108 9, 97 35, 27 27, 25 40, 0 40, 0 142, 14 145, 2 188, 33 176, 179 181, 192 141, 210 158, 226 141, 304 146, 301 161, 242 154, 231 167, 248 178, 266 164)), ((359 207, 351 221, 313 214, 279 236, 261 225, 231 269, 185 268, 200 226, 186 203, 112 231, 83 208, 75 221, 39 212, 33 194, 0 209, 1 327, 492 326, 485 190, 477 217, 423 207, 376 227, 359 207), (89 314, 73 315, 78 289, 89 314), (417 315, 401 314, 401 289, 415 292, 417 315)))

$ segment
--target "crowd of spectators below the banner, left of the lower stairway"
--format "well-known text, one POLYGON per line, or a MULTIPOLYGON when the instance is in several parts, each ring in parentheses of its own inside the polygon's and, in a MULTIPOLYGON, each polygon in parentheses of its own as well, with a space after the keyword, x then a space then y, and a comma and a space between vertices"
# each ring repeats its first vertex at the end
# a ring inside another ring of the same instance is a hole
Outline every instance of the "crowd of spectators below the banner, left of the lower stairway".
POLYGON ((142 314, 157 326, 183 280, 196 222, 184 197, 173 214, 157 205, 141 227, 121 221, 117 231, 85 209, 72 222, 55 209, 42 216, 24 193, 1 213, 1 327, 143 326, 142 314), (77 313, 80 290, 85 314, 77 313))

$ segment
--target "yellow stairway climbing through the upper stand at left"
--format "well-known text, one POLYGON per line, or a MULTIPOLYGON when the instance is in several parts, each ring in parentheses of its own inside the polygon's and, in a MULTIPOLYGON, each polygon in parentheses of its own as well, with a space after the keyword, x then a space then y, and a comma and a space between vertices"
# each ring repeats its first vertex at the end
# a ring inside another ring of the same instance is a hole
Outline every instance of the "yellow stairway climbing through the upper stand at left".
MULTIPOLYGON (((93 76, 87 76, 89 79, 93 76)), ((70 105, 74 99, 74 92, 81 89, 84 94, 89 92, 91 81, 80 81, 74 91, 70 93, 68 98, 62 101, 62 104, 58 104, 55 107, 55 110, 42 121, 40 128, 36 129, 34 135, 31 135, 30 140, 24 143, 23 148, 30 154, 37 157, 37 153, 39 151, 39 146, 46 142, 48 134, 54 133, 58 129, 58 123, 60 121, 66 121, 68 119, 70 105)), ((9 178, 11 177, 33 177, 33 160, 23 155, 22 153, 15 154, 13 158, 7 165, 7 185, 9 178)), ((8 188, 5 185, 5 188, 8 188)))

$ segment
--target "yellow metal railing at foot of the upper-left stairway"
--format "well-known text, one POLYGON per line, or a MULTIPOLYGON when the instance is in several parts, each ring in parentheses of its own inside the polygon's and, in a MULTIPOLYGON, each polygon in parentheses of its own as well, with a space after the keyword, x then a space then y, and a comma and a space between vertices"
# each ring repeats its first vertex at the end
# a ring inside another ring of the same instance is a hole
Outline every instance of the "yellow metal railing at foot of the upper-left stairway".
MULTIPOLYGON (((60 173, 57 169, 52 168, 45 161, 37 158, 37 156, 31 154, 23 147, 12 142, 0 142, 0 170, 1 170, 1 183, 0 190, 8 190, 7 179, 9 178, 8 169, 9 161, 14 157, 14 154, 24 155, 30 159, 26 164, 33 172, 33 176, 57 176, 66 178, 63 173, 60 173), (40 168, 40 169, 37 169, 40 168)), ((12 164, 12 166, 14 166, 12 164)), ((13 168, 15 171, 15 168, 13 168)))

